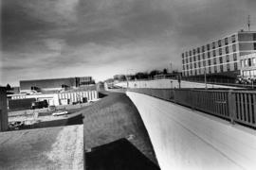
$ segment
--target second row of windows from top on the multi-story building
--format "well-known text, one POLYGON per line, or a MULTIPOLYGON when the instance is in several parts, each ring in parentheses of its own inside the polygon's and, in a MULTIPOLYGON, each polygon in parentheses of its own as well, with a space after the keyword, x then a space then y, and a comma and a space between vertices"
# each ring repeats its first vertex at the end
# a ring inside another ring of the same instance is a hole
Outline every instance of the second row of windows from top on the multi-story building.
MULTIPOLYGON (((236 45, 234 45, 232 49, 233 49, 232 52, 236 52, 236 45)), ((227 55, 229 54, 229 47, 226 47, 225 52, 226 52, 227 55)), ((218 50, 218 56, 222 56, 222 55, 224 55, 224 54, 222 53, 222 48, 220 48, 220 49, 218 50)), ((236 55, 236 54, 235 54, 235 55, 236 55)), ((216 50, 213 50, 213 51, 212 51, 212 57, 216 57, 216 56, 217 56, 217 55, 216 55, 216 50)), ((192 62, 192 59, 193 59, 193 61, 196 61, 196 58, 197 58, 197 60, 200 60, 201 58, 202 58, 202 59, 206 59, 206 58, 210 59, 210 58, 211 58, 211 55, 210 55, 210 52, 208 52, 208 53, 203 53, 203 54, 201 54, 201 55, 198 54, 197 56, 192 56, 192 57, 190 57, 190 58, 182 59, 182 63, 184 64, 184 63, 192 62)))

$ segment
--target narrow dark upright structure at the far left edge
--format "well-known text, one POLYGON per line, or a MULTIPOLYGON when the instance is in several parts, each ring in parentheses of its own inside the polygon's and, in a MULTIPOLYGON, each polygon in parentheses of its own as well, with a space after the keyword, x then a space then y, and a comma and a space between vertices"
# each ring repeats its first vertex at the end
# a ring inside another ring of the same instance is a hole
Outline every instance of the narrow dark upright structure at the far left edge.
POLYGON ((8 129, 7 91, 0 87, 0 131, 8 129))

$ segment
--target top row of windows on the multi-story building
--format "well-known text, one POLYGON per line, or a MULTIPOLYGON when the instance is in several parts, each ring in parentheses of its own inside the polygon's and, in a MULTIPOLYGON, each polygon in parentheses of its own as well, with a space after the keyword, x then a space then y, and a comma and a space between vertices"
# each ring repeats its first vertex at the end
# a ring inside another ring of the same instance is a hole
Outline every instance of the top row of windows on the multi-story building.
MULTIPOLYGON (((225 39, 224 39, 224 42, 225 42, 225 45, 228 45, 228 44, 229 44, 229 39, 228 39, 228 38, 225 38, 225 39)), ((231 42, 232 42, 232 43, 236 42, 235 35, 233 35, 233 36, 231 37, 231 42)), ((221 47, 222 45, 223 45, 223 44, 222 44, 222 41, 221 41, 221 40, 219 40, 218 42, 212 42, 212 43, 211 43, 211 49, 214 50, 216 47, 221 47)), ((235 44, 233 44, 233 45, 235 45, 235 44)), ((227 47, 227 46, 226 46, 226 47, 227 47)), ((195 55, 196 53, 197 53, 197 54, 204 53, 205 51, 210 51, 210 44, 204 45, 204 46, 202 46, 202 47, 197 47, 196 49, 192 49, 192 50, 189 51, 189 52, 182 53, 182 58, 195 55)))

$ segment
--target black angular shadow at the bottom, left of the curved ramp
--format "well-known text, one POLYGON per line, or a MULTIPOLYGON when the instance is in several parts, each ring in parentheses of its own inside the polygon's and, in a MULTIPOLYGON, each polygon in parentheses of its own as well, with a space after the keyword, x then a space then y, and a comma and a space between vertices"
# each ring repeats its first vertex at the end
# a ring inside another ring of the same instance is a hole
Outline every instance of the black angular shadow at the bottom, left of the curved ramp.
POLYGON ((160 169, 125 138, 93 147, 85 156, 86 170, 160 169))

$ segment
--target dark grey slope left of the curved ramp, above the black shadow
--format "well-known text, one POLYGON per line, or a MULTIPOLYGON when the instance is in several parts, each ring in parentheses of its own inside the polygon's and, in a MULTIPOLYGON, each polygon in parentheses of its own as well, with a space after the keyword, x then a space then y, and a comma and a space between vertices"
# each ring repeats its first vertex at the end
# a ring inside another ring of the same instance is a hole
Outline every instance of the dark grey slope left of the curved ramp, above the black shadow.
POLYGON ((85 148, 88 150, 126 138, 157 164, 147 130, 133 102, 125 93, 107 94, 101 101, 81 111, 85 148))

